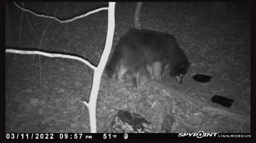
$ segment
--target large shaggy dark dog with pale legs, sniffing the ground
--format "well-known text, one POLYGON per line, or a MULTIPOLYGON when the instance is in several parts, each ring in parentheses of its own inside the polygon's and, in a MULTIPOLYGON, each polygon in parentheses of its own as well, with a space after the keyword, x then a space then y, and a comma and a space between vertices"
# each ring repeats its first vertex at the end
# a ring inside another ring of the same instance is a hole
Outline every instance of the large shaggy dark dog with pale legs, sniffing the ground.
POLYGON ((152 79, 162 80, 163 69, 170 68, 170 75, 178 83, 188 70, 188 59, 173 35, 150 30, 130 29, 120 38, 106 71, 111 78, 115 73, 122 81, 125 72, 130 72, 133 86, 137 88, 138 77, 146 67, 152 79))

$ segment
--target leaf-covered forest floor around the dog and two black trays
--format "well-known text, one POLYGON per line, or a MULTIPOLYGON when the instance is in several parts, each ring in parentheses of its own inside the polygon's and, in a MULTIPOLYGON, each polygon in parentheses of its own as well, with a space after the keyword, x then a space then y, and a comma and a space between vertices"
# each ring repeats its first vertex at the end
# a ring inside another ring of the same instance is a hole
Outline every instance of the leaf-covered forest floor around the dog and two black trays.
MULTIPOLYGON (((25 2, 24 6, 37 13, 56 12, 66 19, 104 5, 107 3, 25 2)), ((161 83, 143 70, 140 90, 132 87, 128 74, 125 83, 120 83, 104 72, 96 109, 98 132, 104 131, 118 110, 145 117, 153 133, 160 132, 170 113, 175 117, 170 132, 250 132, 250 7, 249 3, 227 3, 226 18, 219 22, 211 19, 208 2, 177 2, 175 9, 173 2, 143 2, 143 29, 174 35, 190 68, 182 85, 166 70, 161 83), (198 73, 213 78, 207 83, 194 81, 192 76, 198 73), (235 102, 226 108, 212 103, 213 95, 235 102)), ((8 8, 12 42, 7 46, 71 53, 98 64, 107 33, 106 10, 60 24, 22 13, 11 3, 8 8)), ((117 2, 112 52, 119 38, 134 27, 135 9, 134 2, 117 2)), ((83 101, 89 99, 93 76, 79 61, 6 54, 6 132, 90 132, 83 101)))

